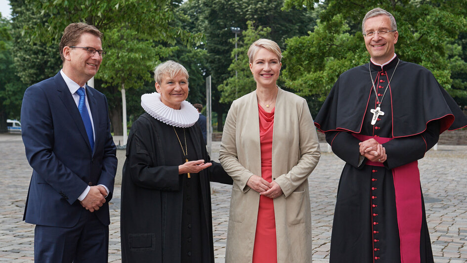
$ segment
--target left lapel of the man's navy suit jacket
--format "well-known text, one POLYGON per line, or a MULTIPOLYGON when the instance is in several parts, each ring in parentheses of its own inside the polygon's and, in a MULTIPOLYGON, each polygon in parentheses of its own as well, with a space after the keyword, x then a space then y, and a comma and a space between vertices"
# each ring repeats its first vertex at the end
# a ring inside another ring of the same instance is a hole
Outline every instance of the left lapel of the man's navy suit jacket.
POLYGON ((70 93, 70 89, 68 89, 68 86, 63 80, 60 72, 58 72, 57 75, 55 75, 55 77, 53 78, 54 78, 54 81, 57 87, 58 97, 60 98, 65 108, 70 113, 71 119, 73 120, 73 123, 76 125, 76 128, 78 129, 78 131, 81 133, 81 136, 83 137, 83 140, 87 144, 87 147, 89 148, 89 150, 91 150, 91 145, 89 144, 89 139, 87 138, 85 124, 83 123, 83 119, 81 118, 80 111, 78 110, 78 107, 76 106, 76 102, 73 99, 73 95, 70 93))

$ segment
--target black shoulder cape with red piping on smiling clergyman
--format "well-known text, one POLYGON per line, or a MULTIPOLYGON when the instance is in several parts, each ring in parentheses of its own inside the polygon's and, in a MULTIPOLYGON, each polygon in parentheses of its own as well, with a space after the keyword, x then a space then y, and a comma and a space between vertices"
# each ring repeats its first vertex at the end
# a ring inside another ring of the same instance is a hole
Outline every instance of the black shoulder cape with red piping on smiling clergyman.
MULTIPOLYGON (((384 83, 376 84, 378 93, 384 92, 398 59, 395 57, 384 65, 383 71, 389 75, 382 76, 384 83)), ((373 79, 380 81, 378 78, 381 77, 382 68, 373 63, 371 68, 373 79)), ((401 60, 390 84, 382 101, 383 106, 392 105, 388 109, 393 119, 397 120, 392 123, 390 137, 420 134, 425 131, 428 122, 438 119, 441 120, 440 132, 467 126, 467 119, 459 105, 426 68, 401 60)), ((371 95, 374 95, 374 91, 368 64, 342 73, 315 118, 316 127, 321 132, 360 133, 365 113, 369 112, 369 107, 375 108, 373 104, 369 105, 373 103, 370 101, 371 95)))

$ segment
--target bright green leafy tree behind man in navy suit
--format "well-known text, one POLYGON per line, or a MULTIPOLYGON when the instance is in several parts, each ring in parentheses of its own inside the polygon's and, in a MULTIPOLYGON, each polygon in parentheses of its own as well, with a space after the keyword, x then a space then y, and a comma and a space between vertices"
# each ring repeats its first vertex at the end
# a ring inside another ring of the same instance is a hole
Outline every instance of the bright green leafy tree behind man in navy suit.
MULTIPOLYGON (((56 46, 63 29, 72 22, 84 21, 104 33, 103 47, 109 53, 95 78, 106 87, 102 90, 106 95, 111 93, 109 108, 116 135, 122 134, 122 104, 121 99, 117 99, 119 91, 122 87, 139 88, 150 81, 154 64, 171 51, 156 43, 173 45, 177 40, 185 44, 200 42, 201 34, 191 34, 171 26, 173 9, 179 4, 169 0, 11 1, 13 19, 24 17, 23 23, 18 25, 18 35, 21 41, 33 46, 42 43, 56 46), (37 17, 39 21, 29 22, 30 17, 37 17)), ((52 56, 58 55, 56 51, 55 47, 52 56)), ((18 63, 28 62, 22 60, 18 63)))

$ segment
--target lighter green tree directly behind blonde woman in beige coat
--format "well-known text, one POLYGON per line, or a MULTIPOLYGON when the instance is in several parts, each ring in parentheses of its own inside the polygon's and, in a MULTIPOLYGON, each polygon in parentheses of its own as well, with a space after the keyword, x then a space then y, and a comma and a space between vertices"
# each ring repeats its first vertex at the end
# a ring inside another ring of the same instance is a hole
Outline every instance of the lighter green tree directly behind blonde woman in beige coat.
MULTIPOLYGON (((229 72, 232 77, 225 80, 218 87, 222 93, 220 97, 222 103, 230 104, 233 100, 250 93, 256 88, 255 80, 250 71, 247 52, 253 42, 261 38, 268 38, 271 29, 261 26, 255 29, 251 21, 247 25, 248 29, 243 32, 242 40, 239 41, 238 47, 234 48, 231 54, 233 61, 229 66, 229 72), (237 55, 237 59, 235 59, 235 55, 237 55)), ((235 42, 235 39, 232 39, 231 42, 235 42)))

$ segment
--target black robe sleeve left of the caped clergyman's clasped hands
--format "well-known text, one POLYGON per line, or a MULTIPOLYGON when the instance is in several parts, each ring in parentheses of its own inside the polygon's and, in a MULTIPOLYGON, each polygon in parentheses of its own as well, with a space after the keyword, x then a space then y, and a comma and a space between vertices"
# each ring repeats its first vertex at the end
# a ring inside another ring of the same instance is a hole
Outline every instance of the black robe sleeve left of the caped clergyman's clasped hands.
POLYGON ((360 145, 358 145, 360 140, 352 134, 349 132, 326 132, 326 141, 340 159, 355 168, 363 167, 360 161, 360 145))

